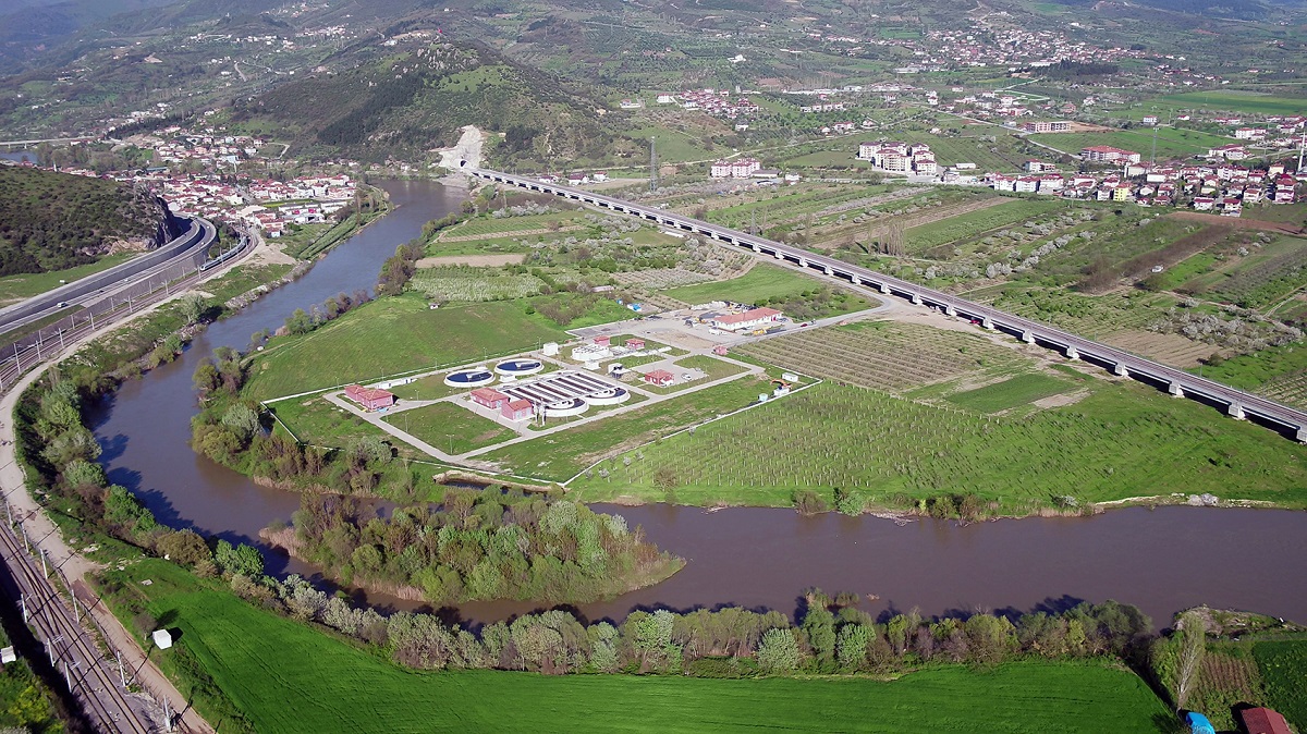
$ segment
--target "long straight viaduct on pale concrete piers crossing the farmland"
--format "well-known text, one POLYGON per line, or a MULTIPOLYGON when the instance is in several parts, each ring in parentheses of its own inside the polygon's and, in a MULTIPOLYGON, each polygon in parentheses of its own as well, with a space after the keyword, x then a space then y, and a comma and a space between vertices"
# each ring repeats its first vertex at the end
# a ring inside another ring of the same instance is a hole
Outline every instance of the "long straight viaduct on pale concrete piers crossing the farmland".
POLYGON ((1068 359, 1082 359, 1085 362, 1098 364, 1110 370, 1115 375, 1133 377, 1141 383, 1165 389, 1175 397, 1189 397, 1200 402, 1213 405, 1233 418, 1255 419, 1259 423, 1264 423, 1277 431, 1293 436, 1298 441, 1307 443, 1307 411, 1289 407, 1287 405, 1281 405, 1273 400, 1191 375, 1184 370, 1159 364, 1150 359, 1078 337, 1047 324, 1040 324, 1030 319, 1006 313, 980 303, 972 303, 955 295, 894 278, 884 273, 877 273, 876 270, 850 265, 848 263, 835 260, 834 257, 817 255, 806 249, 795 248, 758 235, 750 235, 729 227, 723 227, 720 225, 685 217, 674 212, 667 212, 664 209, 646 206, 576 188, 541 183, 525 176, 499 171, 469 168, 465 167, 465 165, 463 170, 472 176, 488 182, 515 185, 528 191, 552 193, 580 204, 588 204, 600 209, 609 209, 621 214, 638 217, 676 230, 711 238, 741 249, 752 249, 758 255, 775 257, 779 263, 787 265, 817 270, 826 276, 848 281, 853 286, 880 293, 881 295, 899 296, 918 306, 937 307, 950 316, 972 319, 985 329, 997 329, 1009 333, 1026 343, 1056 349, 1065 354, 1068 359))

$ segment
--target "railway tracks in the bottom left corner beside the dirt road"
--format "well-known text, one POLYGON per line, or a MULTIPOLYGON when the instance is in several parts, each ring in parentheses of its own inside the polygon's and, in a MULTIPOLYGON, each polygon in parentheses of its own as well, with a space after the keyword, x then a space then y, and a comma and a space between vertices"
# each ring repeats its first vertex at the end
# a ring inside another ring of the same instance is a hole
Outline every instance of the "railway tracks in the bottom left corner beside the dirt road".
MULTIPOLYGON (((26 551, 21 522, 18 528, 14 532, 5 524, 4 532, 0 532, 0 555, 21 594, 18 603, 24 616, 35 628, 51 665, 64 674, 85 713, 105 731, 162 731, 163 726, 153 721, 146 710, 150 707, 148 700, 125 690, 120 671, 114 669, 112 661, 105 657, 91 633, 82 627, 80 614, 89 613, 69 609, 54 581, 38 567, 39 562, 26 551)), ((73 606, 76 603, 72 602, 73 606)))

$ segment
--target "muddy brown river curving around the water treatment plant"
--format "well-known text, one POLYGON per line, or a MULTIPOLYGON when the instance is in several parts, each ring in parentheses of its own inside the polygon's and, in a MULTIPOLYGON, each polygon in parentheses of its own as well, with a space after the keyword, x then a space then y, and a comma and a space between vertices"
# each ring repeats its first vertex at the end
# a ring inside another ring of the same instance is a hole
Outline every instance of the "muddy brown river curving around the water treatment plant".
MULTIPOLYGON (((382 261, 422 223, 459 208, 463 192, 430 182, 388 182, 397 208, 339 246, 299 281, 242 313, 213 324, 176 362, 127 383, 93 415, 111 481, 137 492, 174 528, 233 542, 286 520, 298 495, 260 487, 196 455, 187 444, 195 414, 191 374, 217 346, 243 349, 298 307, 370 287, 382 261)), ((1213 419, 1218 417, 1213 414, 1213 419)), ((1133 494, 1148 494, 1138 487, 1133 494)), ((907 525, 876 517, 800 517, 789 509, 610 507, 648 538, 689 560, 670 580, 605 603, 592 619, 637 607, 741 605, 786 613, 806 586, 872 594, 873 614, 920 607, 927 615, 976 609, 1061 609, 1081 599, 1138 605, 1159 626, 1187 606, 1249 609, 1307 622, 1307 513, 1165 507, 1116 509, 1094 517, 1026 519, 958 526, 907 525)), ((273 572, 312 568, 267 552, 273 572)), ((361 598, 363 598, 361 596, 361 598)), ((413 607, 391 598, 380 606, 413 607)), ((472 603, 468 620, 493 620, 531 603, 472 603)))

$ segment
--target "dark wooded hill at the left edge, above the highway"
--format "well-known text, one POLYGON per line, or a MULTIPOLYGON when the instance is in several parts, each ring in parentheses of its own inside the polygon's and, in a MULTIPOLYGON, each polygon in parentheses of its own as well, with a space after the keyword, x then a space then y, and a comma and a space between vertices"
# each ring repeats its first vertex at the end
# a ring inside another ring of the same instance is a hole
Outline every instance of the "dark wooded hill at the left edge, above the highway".
POLYGON ((0 166, 0 276, 94 263, 156 242, 163 209, 103 179, 0 166))

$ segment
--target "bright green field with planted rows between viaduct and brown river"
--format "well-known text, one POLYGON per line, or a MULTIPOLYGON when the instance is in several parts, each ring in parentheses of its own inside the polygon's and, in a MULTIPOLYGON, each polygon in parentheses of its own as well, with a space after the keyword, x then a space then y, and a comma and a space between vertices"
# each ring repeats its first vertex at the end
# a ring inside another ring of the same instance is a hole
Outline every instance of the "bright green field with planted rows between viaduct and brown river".
MULTIPOLYGON (((687 504, 788 505, 796 491, 838 487, 901 508, 968 492, 1016 515, 1064 496, 1168 492, 1307 505, 1307 448, 1146 387, 1082 380, 1093 393, 1080 402, 1019 419, 827 383, 616 456, 609 477, 571 488, 586 502, 663 500, 672 490, 687 504)), ((1023 397, 1046 394, 1043 381, 1023 397)), ((1013 393, 984 402, 1010 404, 1013 393)))

